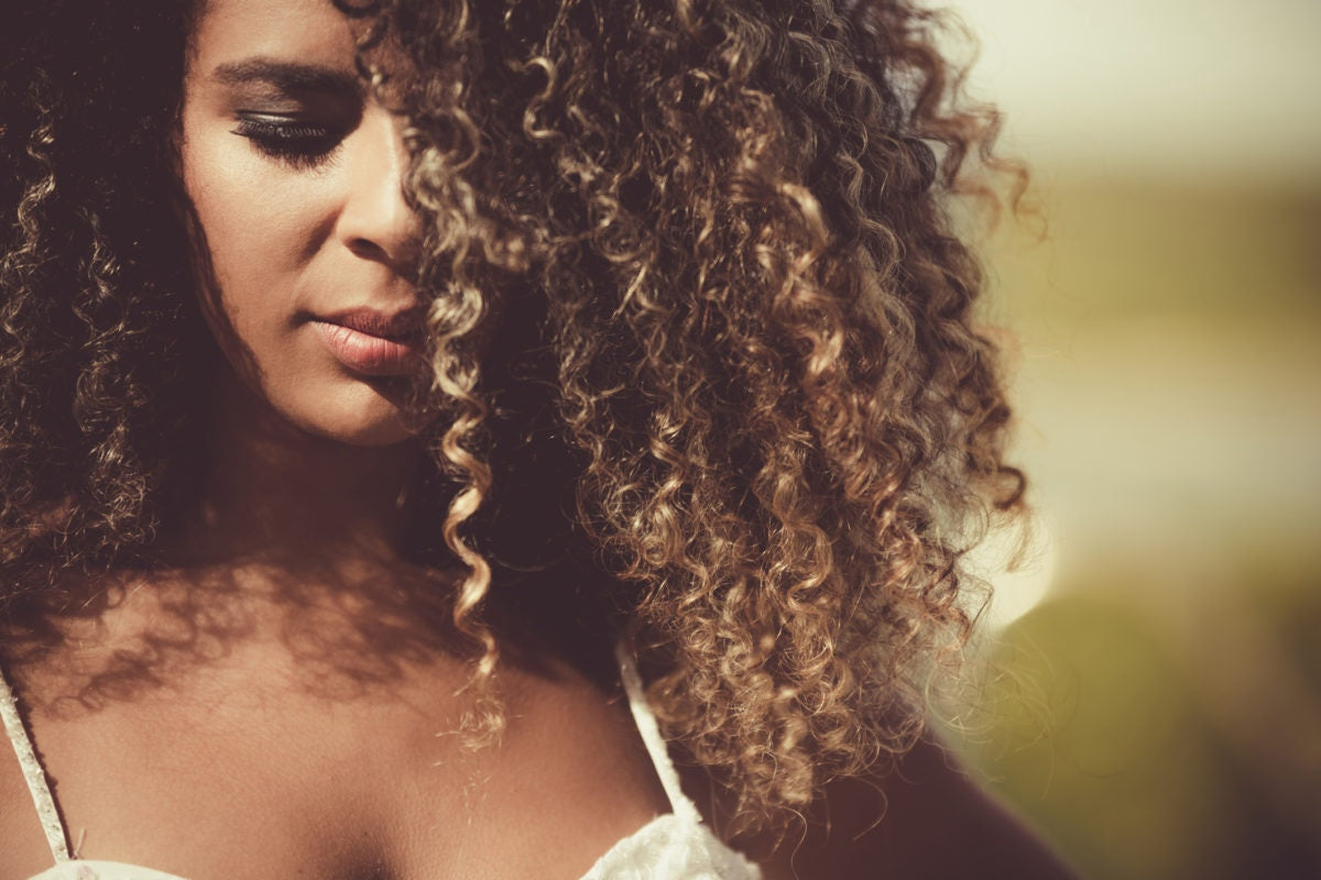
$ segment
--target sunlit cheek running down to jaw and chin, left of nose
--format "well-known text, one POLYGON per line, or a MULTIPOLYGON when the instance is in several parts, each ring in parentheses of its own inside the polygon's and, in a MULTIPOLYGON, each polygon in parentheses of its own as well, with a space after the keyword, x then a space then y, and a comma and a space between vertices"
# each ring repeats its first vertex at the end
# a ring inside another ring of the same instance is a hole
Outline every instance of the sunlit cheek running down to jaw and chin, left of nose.
POLYGON ((355 445, 407 438, 394 398, 347 376, 306 321, 328 302, 359 296, 346 285, 363 276, 336 236, 351 189, 346 165, 310 170, 272 161, 231 128, 215 119, 190 124, 185 112, 180 145, 205 255, 198 296, 227 361, 309 433, 355 445))

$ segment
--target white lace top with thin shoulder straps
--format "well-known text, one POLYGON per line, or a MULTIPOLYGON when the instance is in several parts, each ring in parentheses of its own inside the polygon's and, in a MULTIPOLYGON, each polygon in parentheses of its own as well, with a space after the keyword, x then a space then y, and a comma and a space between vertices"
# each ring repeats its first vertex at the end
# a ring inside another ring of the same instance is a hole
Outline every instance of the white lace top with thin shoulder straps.
MULTIPOLYGON (((634 834, 616 843, 597 859, 583 880, 761 880, 761 871, 734 852, 701 822, 696 805, 679 788, 670 752, 655 715, 647 705, 633 657, 621 645, 616 652, 629 708, 646 743, 657 776, 670 798, 671 813, 658 815, 634 834)), ((119 862, 79 859, 69 850, 69 835, 59 815, 45 769, 18 718, 13 691, 0 674, 0 720, 9 735, 28 790, 46 831, 55 864, 30 880, 185 880, 173 873, 119 862)))

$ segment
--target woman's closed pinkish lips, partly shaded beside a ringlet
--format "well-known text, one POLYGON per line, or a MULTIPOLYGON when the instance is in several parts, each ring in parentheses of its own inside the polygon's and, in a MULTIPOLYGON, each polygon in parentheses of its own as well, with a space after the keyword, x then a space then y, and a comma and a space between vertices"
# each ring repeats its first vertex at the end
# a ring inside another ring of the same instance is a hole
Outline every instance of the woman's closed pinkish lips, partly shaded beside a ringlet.
POLYGON ((417 367, 421 313, 354 309, 312 318, 330 355, 367 376, 402 376, 417 367))

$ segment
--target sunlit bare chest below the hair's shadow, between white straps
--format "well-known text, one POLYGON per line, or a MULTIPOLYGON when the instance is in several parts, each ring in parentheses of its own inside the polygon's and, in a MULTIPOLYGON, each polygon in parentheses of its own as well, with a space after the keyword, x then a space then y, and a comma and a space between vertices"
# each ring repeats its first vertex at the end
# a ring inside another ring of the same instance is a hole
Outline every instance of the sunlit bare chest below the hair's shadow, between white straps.
MULTIPOLYGON (((505 736, 478 749, 443 668, 328 694, 239 666, 132 702, 52 705, 32 728, 87 859, 190 880, 575 880, 667 811, 664 793, 622 698, 572 676, 503 685, 505 736)), ((0 880, 22 880, 49 855, 5 761, 0 836, 22 843, 0 880)))

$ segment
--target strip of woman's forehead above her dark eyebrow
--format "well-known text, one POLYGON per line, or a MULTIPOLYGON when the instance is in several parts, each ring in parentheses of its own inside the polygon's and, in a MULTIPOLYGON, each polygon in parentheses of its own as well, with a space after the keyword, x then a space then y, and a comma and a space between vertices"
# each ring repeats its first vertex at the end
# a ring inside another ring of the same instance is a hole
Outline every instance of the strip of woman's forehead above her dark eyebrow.
POLYGON ((190 75, 250 57, 354 70, 354 22, 330 0, 206 0, 190 40, 190 75))

